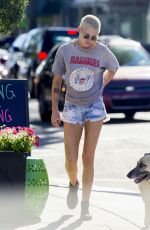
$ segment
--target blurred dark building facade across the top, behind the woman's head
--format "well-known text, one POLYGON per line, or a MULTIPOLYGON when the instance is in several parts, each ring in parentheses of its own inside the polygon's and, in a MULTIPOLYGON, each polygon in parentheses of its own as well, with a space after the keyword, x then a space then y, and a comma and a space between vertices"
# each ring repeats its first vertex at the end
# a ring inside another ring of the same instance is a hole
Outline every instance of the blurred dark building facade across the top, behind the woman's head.
POLYGON ((150 0, 32 0, 37 25, 77 27, 86 14, 102 22, 101 34, 118 34, 150 43, 150 0), (54 4, 55 3, 55 4, 54 4))

